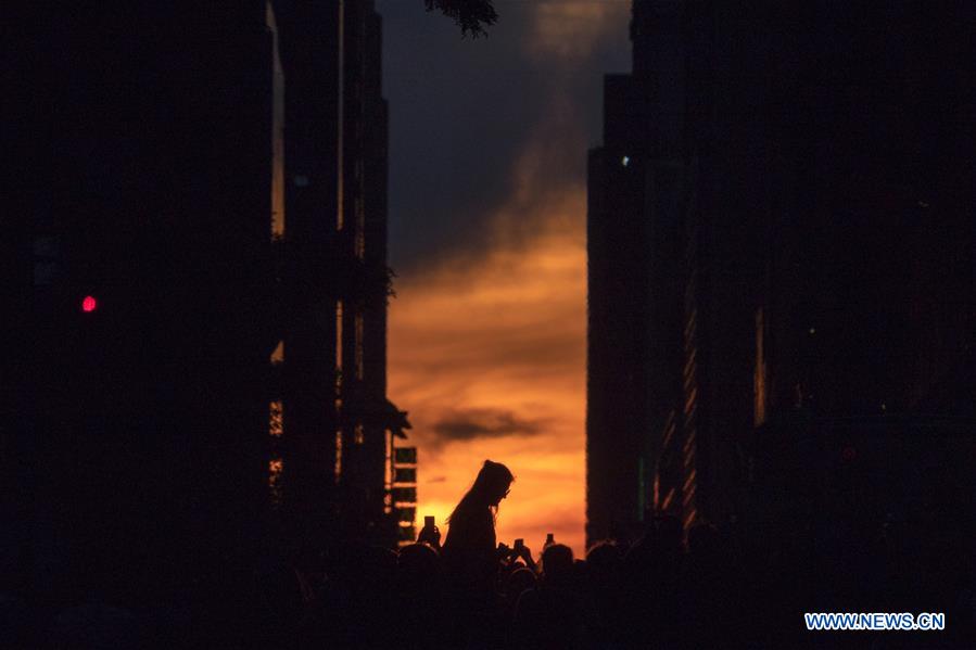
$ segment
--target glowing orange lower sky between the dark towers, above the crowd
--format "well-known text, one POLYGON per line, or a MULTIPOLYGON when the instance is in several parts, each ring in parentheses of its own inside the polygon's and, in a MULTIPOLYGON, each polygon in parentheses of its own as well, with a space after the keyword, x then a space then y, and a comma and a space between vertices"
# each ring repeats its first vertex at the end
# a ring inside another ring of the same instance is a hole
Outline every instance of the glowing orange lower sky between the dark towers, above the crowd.
POLYGON ((403 279, 391 303, 390 393, 409 405, 418 519, 445 520, 481 463, 516 475, 499 541, 546 533, 583 551, 586 264, 582 194, 524 247, 403 279))

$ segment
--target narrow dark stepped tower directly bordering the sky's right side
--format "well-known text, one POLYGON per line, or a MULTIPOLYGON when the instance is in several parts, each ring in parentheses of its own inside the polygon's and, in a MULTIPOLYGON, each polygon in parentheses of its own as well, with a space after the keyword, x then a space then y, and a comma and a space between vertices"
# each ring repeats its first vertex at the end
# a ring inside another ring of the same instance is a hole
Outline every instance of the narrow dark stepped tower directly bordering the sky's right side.
POLYGON ((590 152, 590 541, 643 522, 657 459, 668 455, 679 467, 683 459, 675 432, 684 421, 683 388, 694 388, 694 374, 683 382, 682 369, 685 346, 694 352, 695 322, 683 328, 680 306, 688 301, 694 311, 696 296, 682 280, 682 29, 680 2, 634 7, 634 73, 606 77, 604 145, 590 152), (651 430, 669 433, 652 436, 651 430))

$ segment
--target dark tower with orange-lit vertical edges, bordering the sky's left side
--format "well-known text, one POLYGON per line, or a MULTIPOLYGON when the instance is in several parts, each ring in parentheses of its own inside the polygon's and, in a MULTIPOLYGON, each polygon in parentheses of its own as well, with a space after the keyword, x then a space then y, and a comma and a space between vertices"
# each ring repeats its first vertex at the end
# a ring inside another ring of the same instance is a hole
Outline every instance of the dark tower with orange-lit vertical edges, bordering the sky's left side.
POLYGON ((279 383, 269 480, 287 521, 388 540, 396 532, 392 437, 408 424, 385 397, 391 272, 380 16, 369 1, 289 4, 279 25, 288 192, 276 238, 291 285, 272 359, 279 383))

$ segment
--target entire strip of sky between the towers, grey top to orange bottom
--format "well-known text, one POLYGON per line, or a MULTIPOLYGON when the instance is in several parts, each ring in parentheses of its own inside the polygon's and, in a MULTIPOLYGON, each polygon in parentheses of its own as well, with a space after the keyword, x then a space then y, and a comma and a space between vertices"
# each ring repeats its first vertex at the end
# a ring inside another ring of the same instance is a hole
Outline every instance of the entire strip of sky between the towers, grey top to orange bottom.
POLYGON ((630 0, 496 0, 462 39, 378 0, 390 101, 389 394, 419 449, 418 520, 485 458, 516 474, 498 538, 583 549, 586 150, 603 75, 630 69, 630 0))

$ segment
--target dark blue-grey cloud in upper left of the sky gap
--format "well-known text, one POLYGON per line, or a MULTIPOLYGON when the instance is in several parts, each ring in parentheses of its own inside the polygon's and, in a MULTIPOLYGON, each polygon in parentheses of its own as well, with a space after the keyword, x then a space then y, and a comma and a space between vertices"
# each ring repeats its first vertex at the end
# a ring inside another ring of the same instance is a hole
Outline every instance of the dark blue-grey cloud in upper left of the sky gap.
POLYGON ((489 38, 472 40, 421 0, 377 5, 390 101, 390 253, 405 271, 483 230, 544 98, 524 82, 528 22, 518 7, 489 38))

